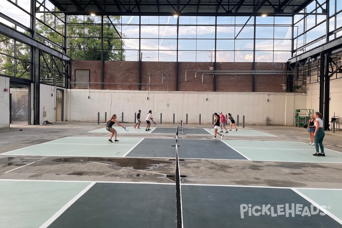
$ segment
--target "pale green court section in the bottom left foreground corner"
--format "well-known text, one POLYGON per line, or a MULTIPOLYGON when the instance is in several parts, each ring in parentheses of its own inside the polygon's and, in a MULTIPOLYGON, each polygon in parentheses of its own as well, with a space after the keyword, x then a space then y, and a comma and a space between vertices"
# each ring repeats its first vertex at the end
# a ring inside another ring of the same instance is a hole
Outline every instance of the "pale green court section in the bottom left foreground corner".
POLYGON ((0 180, 0 227, 38 228, 90 184, 0 180))

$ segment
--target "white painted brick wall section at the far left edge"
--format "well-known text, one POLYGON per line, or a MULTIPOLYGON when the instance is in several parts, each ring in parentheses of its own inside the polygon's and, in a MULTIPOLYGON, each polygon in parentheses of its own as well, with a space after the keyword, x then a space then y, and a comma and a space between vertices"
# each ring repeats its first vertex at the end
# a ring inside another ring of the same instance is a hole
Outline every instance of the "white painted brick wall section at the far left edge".
POLYGON ((0 128, 10 127, 10 79, 0 76, 0 128), (7 92, 4 90, 8 89, 7 92))

